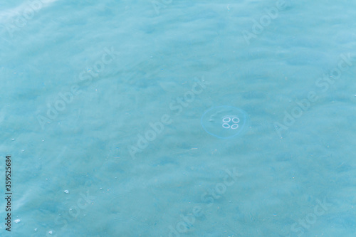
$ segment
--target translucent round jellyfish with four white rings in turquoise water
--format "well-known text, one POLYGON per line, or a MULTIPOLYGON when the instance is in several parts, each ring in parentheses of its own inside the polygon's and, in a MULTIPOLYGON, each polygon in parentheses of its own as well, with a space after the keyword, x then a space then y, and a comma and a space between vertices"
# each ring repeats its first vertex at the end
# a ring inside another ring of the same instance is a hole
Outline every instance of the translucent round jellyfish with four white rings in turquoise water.
POLYGON ((200 122, 209 135, 230 139, 243 134, 248 127, 248 115, 237 107, 223 105, 206 110, 200 122))

